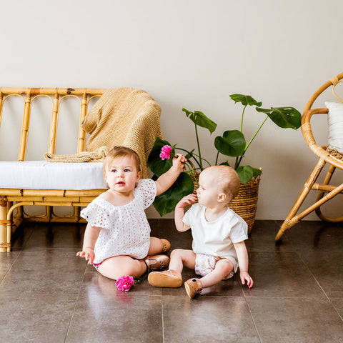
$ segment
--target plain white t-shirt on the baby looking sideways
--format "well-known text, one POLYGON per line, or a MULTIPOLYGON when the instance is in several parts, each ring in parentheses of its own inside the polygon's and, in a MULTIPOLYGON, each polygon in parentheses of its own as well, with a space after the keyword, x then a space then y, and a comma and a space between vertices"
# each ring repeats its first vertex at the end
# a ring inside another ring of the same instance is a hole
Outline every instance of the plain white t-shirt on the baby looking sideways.
POLYGON ((237 261, 234 243, 248 238, 248 226, 232 209, 227 208, 213 222, 205 219, 205 207, 193 204, 184 214, 184 224, 192 229, 192 249, 196 254, 207 254, 237 261))

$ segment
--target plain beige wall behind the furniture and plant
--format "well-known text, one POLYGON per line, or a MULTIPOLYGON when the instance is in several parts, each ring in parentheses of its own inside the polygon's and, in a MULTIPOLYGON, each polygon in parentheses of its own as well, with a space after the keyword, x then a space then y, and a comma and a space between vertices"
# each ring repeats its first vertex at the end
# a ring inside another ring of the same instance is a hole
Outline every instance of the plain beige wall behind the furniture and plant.
MULTIPOLYGON (((3 1, 0 83, 145 89, 173 144, 195 147, 182 107, 217 121, 201 132, 213 162, 214 137, 239 125, 229 94, 302 111, 343 71, 342 13, 342 0, 3 1)), ((247 113, 247 139, 263 118, 247 113)), ((246 156, 263 168, 257 218, 283 219, 315 161, 300 131, 266 124, 246 156)))

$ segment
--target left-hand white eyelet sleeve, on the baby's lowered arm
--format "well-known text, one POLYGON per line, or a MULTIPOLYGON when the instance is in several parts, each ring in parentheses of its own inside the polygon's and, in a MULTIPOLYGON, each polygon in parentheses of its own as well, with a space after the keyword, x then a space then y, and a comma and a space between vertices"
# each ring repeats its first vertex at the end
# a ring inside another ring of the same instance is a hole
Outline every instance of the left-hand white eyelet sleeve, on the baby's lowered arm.
POLYGON ((86 219, 89 225, 92 227, 101 227, 107 229, 111 227, 111 221, 109 217, 109 209, 102 206, 99 202, 100 198, 96 198, 85 209, 82 209, 80 215, 86 219))

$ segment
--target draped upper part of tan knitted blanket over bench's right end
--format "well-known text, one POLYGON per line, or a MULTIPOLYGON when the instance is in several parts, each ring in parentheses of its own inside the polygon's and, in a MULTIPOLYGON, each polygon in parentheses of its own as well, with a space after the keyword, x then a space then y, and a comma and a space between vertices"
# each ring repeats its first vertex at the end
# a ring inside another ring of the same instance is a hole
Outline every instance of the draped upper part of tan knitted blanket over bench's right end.
POLYGON ((146 91, 125 87, 108 89, 81 124, 90 134, 86 150, 127 146, 139 154, 142 177, 146 178, 146 160, 156 137, 162 138, 160 115, 161 107, 146 91))

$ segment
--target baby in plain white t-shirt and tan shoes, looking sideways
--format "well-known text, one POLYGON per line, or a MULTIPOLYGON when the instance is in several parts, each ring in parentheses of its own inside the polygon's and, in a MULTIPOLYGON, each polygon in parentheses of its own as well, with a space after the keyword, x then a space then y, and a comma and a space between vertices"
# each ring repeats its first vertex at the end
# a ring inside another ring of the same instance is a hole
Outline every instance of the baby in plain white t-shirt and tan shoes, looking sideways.
POLYGON ((175 208, 175 225, 179 232, 192 229, 192 250, 172 251, 169 270, 149 274, 155 287, 180 287, 184 266, 194 269, 201 279, 184 282, 190 298, 223 279, 229 279, 239 267, 242 284, 252 288, 248 273, 247 223, 227 207, 239 192, 239 177, 230 166, 210 166, 199 176, 197 196, 189 194, 175 208), (198 199, 198 204, 194 204, 198 199), (193 204, 184 214, 184 207, 193 204))

